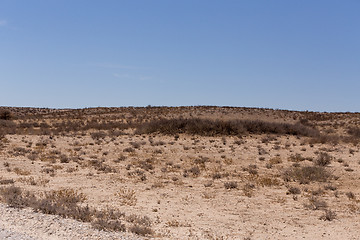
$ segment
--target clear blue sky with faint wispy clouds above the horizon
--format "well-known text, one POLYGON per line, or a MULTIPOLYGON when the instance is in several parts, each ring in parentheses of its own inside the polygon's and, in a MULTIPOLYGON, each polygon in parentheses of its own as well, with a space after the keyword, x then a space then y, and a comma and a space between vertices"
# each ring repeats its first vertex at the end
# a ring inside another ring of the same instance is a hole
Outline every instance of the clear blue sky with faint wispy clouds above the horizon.
POLYGON ((0 0, 0 105, 360 111, 359 0, 0 0))

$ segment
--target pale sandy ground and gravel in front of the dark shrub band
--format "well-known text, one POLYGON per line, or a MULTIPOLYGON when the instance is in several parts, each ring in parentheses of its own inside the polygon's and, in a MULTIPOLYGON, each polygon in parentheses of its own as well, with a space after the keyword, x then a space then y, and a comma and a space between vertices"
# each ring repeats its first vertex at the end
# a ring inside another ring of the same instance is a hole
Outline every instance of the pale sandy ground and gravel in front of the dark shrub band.
MULTIPOLYGON (((149 218, 154 233, 146 238, 360 239, 359 160, 359 145, 313 144, 285 135, 7 135, 0 180, 14 183, 0 187, 15 185, 38 195, 74 189, 94 208, 149 218), (287 169, 313 166, 324 152, 331 157, 324 169, 333 177, 305 184, 285 180, 287 169), (291 187, 299 193, 289 193, 291 187), (314 199, 326 206, 309 207, 314 199), (336 217, 324 220, 326 211, 336 217)), ((0 216, 4 239, 134 237, 129 230, 99 232, 31 209, 0 205, 0 216)), ((128 218, 124 223, 131 226, 128 218)))

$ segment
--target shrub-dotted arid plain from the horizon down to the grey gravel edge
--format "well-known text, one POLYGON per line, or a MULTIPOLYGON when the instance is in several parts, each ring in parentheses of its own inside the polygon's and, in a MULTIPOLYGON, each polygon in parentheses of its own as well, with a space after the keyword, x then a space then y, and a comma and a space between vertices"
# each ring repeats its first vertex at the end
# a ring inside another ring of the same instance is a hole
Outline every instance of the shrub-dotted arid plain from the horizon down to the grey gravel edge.
POLYGON ((143 238, 359 239, 359 113, 0 112, 8 207, 143 238))

